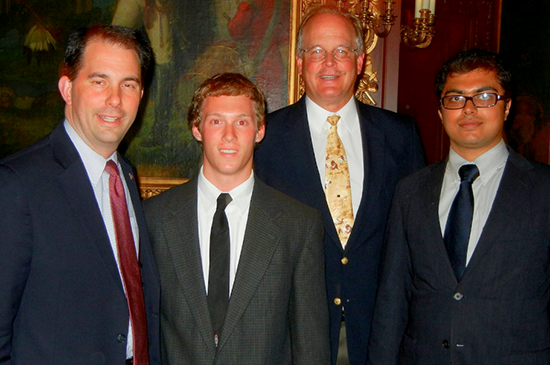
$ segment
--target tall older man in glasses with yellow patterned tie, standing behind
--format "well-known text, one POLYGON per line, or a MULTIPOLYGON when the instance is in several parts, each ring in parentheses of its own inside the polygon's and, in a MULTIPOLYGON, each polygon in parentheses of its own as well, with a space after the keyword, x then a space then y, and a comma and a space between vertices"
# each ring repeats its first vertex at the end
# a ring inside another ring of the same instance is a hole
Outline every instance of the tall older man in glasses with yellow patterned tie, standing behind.
POLYGON ((422 147, 411 120, 354 98, 365 58, 355 17, 314 8, 302 21, 296 48, 306 95, 268 116, 255 170, 268 185, 321 211, 332 362, 338 354, 338 364, 364 364, 393 189, 400 178, 424 166, 422 147), (340 117, 337 133, 349 170, 342 191, 351 191, 353 218, 348 214, 343 225, 325 197, 328 170, 336 170, 325 147, 331 116, 340 117))

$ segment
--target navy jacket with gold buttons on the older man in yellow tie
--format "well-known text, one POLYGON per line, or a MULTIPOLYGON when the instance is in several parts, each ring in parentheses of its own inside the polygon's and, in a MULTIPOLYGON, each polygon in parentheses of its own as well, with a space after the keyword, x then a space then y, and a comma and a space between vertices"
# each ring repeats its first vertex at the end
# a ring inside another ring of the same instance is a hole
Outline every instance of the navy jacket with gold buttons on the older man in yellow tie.
POLYGON ((268 115, 266 137, 255 156, 255 171, 262 181, 323 214, 333 363, 338 350, 342 305, 346 310, 351 363, 364 364, 367 360, 378 261, 393 189, 399 179, 424 166, 422 146, 411 120, 359 102, 357 108, 365 178, 361 204, 345 252, 334 228, 315 162, 304 98, 268 115), (343 257, 348 259, 346 264, 342 262, 343 257), (341 299, 341 305, 335 304, 336 298, 341 299))

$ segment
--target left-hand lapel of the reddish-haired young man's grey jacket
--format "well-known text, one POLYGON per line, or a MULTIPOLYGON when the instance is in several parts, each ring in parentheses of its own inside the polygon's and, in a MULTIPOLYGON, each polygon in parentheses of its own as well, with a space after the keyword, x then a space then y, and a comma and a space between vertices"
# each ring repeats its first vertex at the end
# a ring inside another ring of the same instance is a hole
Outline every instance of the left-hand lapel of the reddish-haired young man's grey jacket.
POLYGON ((178 187, 178 196, 166 206, 171 218, 164 233, 183 296, 193 313, 203 341, 212 356, 216 352, 206 300, 197 221, 197 179, 178 187))

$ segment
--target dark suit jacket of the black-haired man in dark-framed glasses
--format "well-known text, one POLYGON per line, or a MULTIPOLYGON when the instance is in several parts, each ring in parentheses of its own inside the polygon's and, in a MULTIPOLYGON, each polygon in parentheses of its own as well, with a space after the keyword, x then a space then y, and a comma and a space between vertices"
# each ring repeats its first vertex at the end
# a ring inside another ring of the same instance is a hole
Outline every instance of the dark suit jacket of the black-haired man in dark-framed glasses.
POLYGON ((438 216, 445 164, 396 190, 369 364, 548 365, 550 168, 510 152, 457 283, 438 216))

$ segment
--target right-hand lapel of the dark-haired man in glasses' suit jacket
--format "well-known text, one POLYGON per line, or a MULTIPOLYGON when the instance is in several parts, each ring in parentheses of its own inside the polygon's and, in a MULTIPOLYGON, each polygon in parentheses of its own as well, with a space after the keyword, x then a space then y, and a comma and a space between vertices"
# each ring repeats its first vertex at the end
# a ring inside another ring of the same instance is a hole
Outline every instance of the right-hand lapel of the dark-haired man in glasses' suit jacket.
POLYGON ((502 222, 506 222, 511 216, 514 216, 518 207, 529 200, 529 182, 526 178, 526 170, 530 168, 531 166, 525 159, 510 151, 491 212, 466 267, 463 281, 472 275, 477 267, 483 267, 484 257, 500 237, 508 236, 506 230, 510 227, 502 222))

